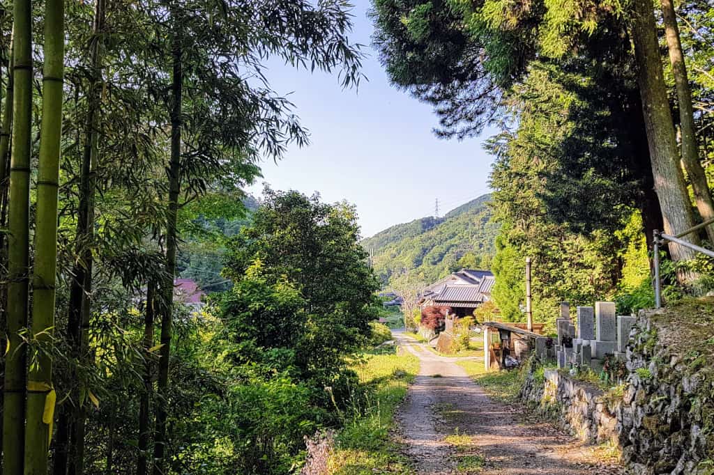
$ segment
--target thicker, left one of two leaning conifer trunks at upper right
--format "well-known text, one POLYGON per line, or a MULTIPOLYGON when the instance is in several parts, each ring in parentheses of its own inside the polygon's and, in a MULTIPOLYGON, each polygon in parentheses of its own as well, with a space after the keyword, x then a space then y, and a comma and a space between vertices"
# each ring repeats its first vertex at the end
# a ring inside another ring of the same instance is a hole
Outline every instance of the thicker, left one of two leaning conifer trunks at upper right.
MULTIPOLYGON (((693 226, 692 207, 679 166, 674 126, 667 100, 655 31, 655 16, 648 0, 635 0, 632 36, 638 66, 638 83, 647 129, 655 192, 662 208, 666 233, 675 235, 693 226)), ((686 240, 695 242, 696 236, 686 240)), ((673 260, 687 260, 694 252, 670 243, 673 260)), ((680 281, 691 276, 680 276, 680 281)))

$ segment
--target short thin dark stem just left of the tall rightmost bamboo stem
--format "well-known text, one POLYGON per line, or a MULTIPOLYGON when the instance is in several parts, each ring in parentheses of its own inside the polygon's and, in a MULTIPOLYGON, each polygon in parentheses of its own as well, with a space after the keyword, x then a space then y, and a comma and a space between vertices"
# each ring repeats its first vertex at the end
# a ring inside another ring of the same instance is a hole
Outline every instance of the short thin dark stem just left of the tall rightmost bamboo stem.
POLYGON ((151 441, 151 424, 149 423, 149 404, 151 403, 151 354, 149 349, 154 346, 154 297, 156 283, 152 280, 146 287, 146 312, 144 313, 144 392, 139 402, 139 460, 136 462, 136 475, 146 475, 148 468, 149 442, 151 441))

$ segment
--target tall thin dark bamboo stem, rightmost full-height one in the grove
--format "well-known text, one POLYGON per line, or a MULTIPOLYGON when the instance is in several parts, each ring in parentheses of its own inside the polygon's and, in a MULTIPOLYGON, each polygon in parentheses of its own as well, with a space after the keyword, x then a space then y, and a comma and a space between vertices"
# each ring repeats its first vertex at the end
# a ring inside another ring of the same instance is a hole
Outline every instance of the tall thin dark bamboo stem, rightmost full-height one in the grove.
MULTIPOLYGON (((172 21, 178 26, 176 16, 172 21)), ((154 440, 154 475, 163 475, 166 461, 166 417, 169 397, 169 356, 171 354, 171 320, 174 310, 174 275, 176 274, 176 217, 181 193, 181 95, 183 64, 181 44, 174 31, 172 45, 174 75, 171 85, 171 160, 169 163, 169 213, 166 218, 166 273, 161 285, 161 344, 159 350, 159 399, 156 404, 156 439, 154 440)))

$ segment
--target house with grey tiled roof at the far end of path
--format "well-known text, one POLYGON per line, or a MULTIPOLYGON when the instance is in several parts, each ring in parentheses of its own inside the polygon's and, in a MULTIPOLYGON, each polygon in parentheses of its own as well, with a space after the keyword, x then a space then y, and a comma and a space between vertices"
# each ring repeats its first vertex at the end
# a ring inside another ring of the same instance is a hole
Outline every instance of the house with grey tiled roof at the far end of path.
POLYGON ((421 307, 451 307, 458 317, 467 317, 491 300, 494 283, 496 279, 488 270, 462 269, 426 287, 421 292, 421 307))

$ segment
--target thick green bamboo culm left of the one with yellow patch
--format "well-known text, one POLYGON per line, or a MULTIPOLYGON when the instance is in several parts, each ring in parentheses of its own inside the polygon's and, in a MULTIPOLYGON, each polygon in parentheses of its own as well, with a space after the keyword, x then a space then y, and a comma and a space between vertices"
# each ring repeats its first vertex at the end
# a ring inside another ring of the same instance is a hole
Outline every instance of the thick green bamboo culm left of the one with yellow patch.
POLYGON ((10 160, 8 285, 3 413, 3 474, 21 475, 25 443, 25 347, 29 284, 29 199, 32 127, 32 5, 13 4, 13 121, 10 160))

